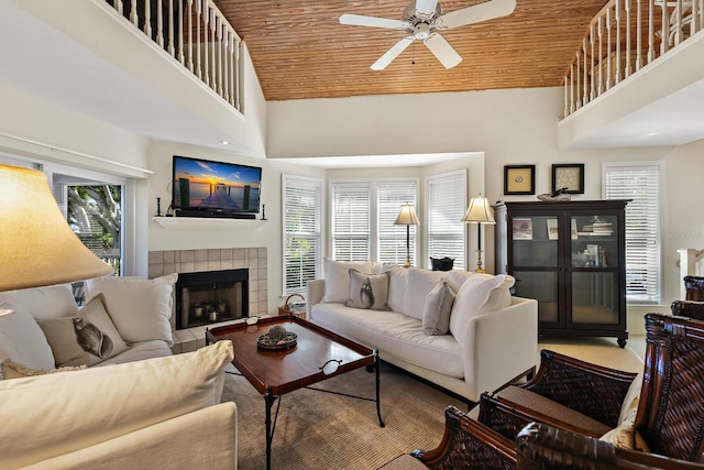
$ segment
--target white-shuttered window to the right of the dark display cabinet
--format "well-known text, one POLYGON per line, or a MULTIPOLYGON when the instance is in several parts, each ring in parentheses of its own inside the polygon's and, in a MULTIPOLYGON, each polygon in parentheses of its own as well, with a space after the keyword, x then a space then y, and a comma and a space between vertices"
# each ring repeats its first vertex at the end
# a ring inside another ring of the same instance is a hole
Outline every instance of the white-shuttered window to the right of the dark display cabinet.
POLYGON ((604 198, 626 205, 626 299, 660 302, 660 173, 658 163, 605 163, 604 198))

